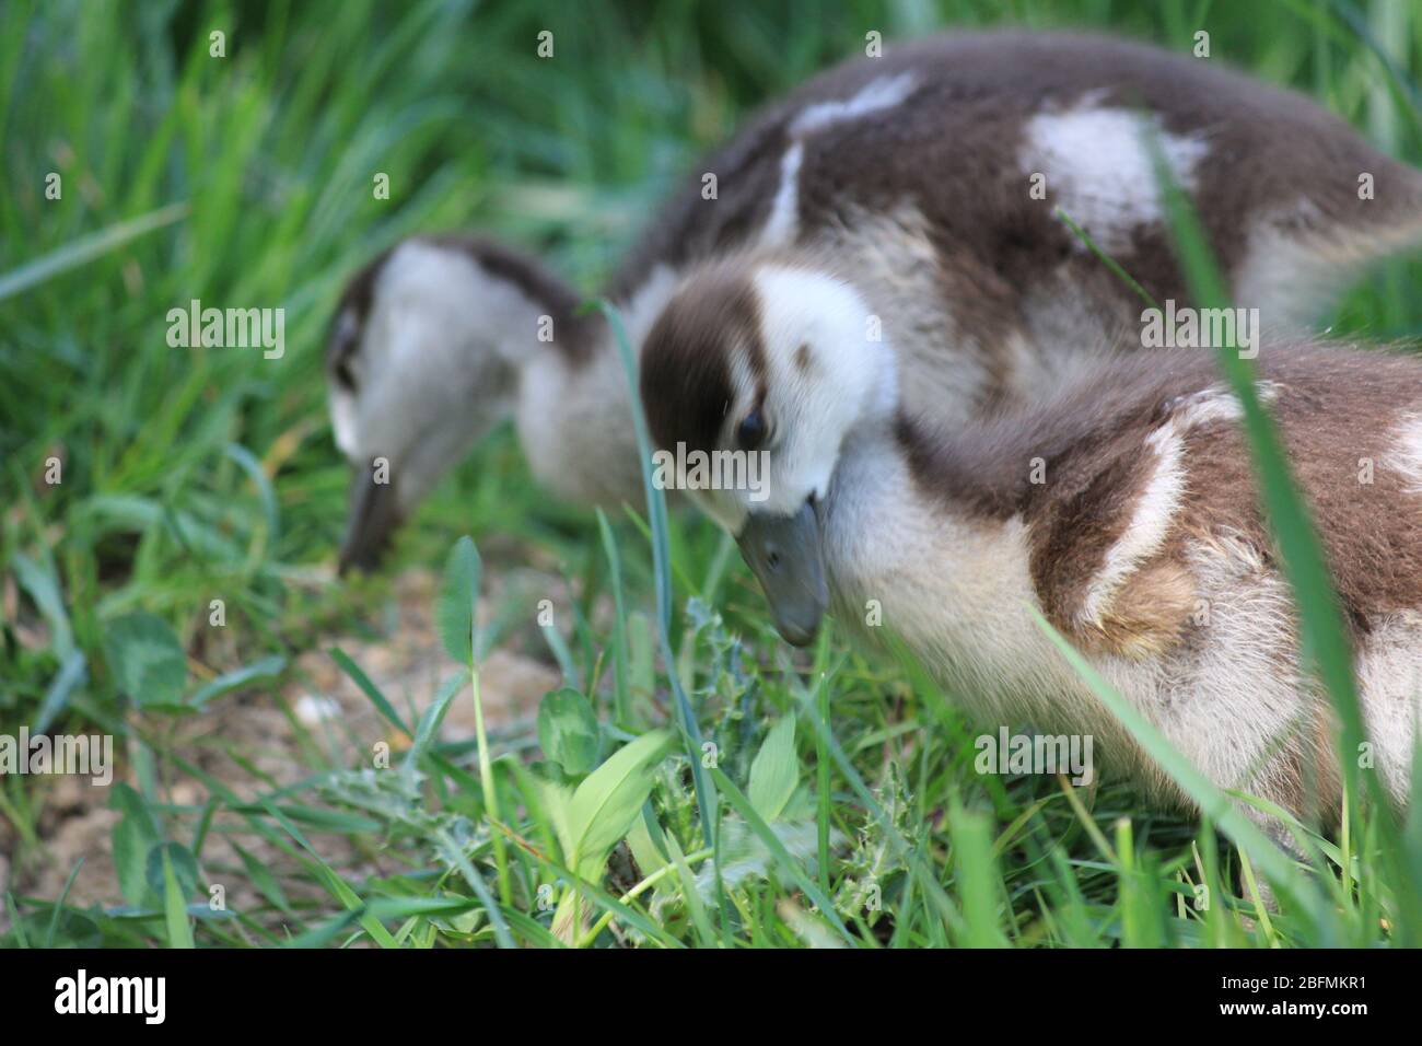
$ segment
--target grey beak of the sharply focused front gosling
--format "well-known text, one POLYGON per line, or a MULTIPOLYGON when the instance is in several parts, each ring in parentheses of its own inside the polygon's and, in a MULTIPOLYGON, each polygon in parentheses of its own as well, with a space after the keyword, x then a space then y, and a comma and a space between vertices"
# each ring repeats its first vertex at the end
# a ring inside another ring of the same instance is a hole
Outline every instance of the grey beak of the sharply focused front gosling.
POLYGON ((813 501, 795 515, 752 514, 737 544, 771 603, 776 630, 785 642, 808 646, 829 605, 813 501))

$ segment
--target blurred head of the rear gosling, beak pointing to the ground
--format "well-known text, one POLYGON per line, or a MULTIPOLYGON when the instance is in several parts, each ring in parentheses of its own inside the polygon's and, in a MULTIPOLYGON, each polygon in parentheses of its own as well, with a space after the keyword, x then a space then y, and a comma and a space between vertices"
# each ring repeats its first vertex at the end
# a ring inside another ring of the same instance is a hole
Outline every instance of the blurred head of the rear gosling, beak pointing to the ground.
POLYGON ((512 414, 542 317, 576 305, 536 262, 458 238, 407 239, 350 280, 326 350, 336 444, 353 467, 343 572, 371 569, 395 525, 512 414))

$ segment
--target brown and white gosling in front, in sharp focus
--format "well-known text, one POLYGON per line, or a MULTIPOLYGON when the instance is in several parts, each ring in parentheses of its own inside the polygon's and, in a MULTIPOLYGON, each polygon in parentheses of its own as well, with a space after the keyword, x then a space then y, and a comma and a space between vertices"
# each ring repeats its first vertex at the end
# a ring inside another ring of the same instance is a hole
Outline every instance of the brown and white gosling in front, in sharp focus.
MULTIPOLYGON (((904 408, 869 313, 845 282, 765 266, 673 300, 643 353, 661 447, 766 455, 758 490, 694 497, 741 541, 781 633, 809 642, 826 605, 870 639, 882 619, 983 720, 1091 734, 1103 768, 1185 803, 1035 608, 1217 786, 1300 815, 1317 787, 1317 808, 1337 810, 1328 703, 1301 667, 1240 406, 1210 354, 1102 359, 944 434, 904 408)), ((1295 342, 1257 364, 1404 801, 1422 692, 1422 359, 1295 342)))

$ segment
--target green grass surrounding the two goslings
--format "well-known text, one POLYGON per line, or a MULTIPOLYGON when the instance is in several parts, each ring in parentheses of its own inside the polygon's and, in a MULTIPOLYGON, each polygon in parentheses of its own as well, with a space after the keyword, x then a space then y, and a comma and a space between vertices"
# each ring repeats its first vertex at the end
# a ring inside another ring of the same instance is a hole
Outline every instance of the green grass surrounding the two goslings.
MULTIPOLYGON (((980 776, 978 727, 921 672, 866 662, 833 635, 791 655, 708 522, 557 505, 508 431, 405 528, 391 574, 444 564, 472 534, 485 578, 538 559, 576 585, 559 655, 573 693, 540 719, 542 750, 528 736, 435 740, 454 702, 479 700, 479 638, 468 657, 455 645, 421 722, 367 680, 410 741, 391 771, 331 764, 313 739, 299 786, 243 801, 171 741, 176 716, 203 716, 228 687, 280 702, 286 683, 309 685, 296 656, 337 629, 377 630, 391 598, 385 581, 337 585, 324 571, 347 475, 326 420, 321 334, 365 256, 415 229, 479 228, 536 249, 592 296, 647 201, 748 107, 870 28, 892 40, 990 24, 1004 9, 1021 24, 1182 50, 1203 24, 1217 58, 1422 157, 1411 85, 1422 19, 1405 3, 1362 16, 1341 0, 852 1, 830 13, 735 0, 547 16, 520 3, 0 7, 0 613, 24 619, 7 616, 0 633, 0 733, 112 731, 135 781, 112 796, 127 905, 11 894, 0 898, 9 941, 1413 941, 1422 815, 1391 824, 1355 791, 1340 838, 1305 833, 1324 871, 1304 874, 1280 870, 1223 808, 1217 833, 1142 813, 1122 787, 980 776), (533 53, 543 28, 552 63, 533 53), (209 57, 212 30, 226 31, 225 58, 209 57), (63 178, 58 201, 44 196, 48 172, 63 178), (375 172, 390 175, 390 201, 373 198, 375 172), (286 356, 169 349, 165 315, 193 297, 284 307, 286 356), (63 461, 57 485, 43 478, 50 457, 63 461), (226 605, 220 630, 212 599, 226 605), (600 606, 616 608, 611 620, 600 606), (139 709, 119 696, 132 672, 158 680, 139 709), (653 741, 631 749, 656 729, 674 731, 670 756, 653 741), (175 803, 182 780, 199 800, 175 803), (286 854, 296 878, 255 858, 216 868, 210 840, 233 821, 286 854), (596 871, 623 835, 640 881, 596 871), (394 855, 400 871, 351 878, 334 841, 394 855), (215 914, 208 887, 232 875, 263 904, 215 914), (1257 904, 1258 875, 1283 879, 1274 912, 1257 904)), ((1398 263, 1371 278, 1334 329, 1418 334, 1416 276, 1398 263)), ((1276 522, 1294 519, 1287 492, 1274 498, 1276 522)), ((1290 534, 1295 581, 1313 585, 1307 528, 1290 534)), ((468 552, 455 561, 442 622, 478 583, 468 552)), ((1337 689, 1324 601, 1310 596, 1305 625, 1337 689)), ((0 778, 11 867, 46 847, 48 801, 43 786, 0 778)))

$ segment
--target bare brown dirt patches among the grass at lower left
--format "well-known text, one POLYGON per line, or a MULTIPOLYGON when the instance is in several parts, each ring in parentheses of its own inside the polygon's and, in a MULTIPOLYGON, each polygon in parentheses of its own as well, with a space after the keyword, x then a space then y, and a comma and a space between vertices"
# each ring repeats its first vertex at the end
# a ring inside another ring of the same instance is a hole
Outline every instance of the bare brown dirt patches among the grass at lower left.
MULTIPOLYGON (((377 741, 398 750, 405 741, 374 709, 326 649, 338 645, 370 676, 407 722, 412 723, 434 699, 442 680, 456 669, 439 643, 432 616, 437 578, 428 571, 408 571, 394 582, 395 625, 390 635, 374 640, 356 636, 330 636, 320 650, 297 659, 280 700, 262 692, 233 693, 215 700, 203 714, 179 720, 173 750, 247 798, 273 787, 292 784, 327 767, 370 764, 377 741)), ((538 712, 547 690, 556 687, 556 667, 530 656, 493 650, 483 663, 481 690, 485 723, 491 731, 526 724, 538 712)), ((474 737, 474 703, 468 689, 455 699, 441 727, 441 737, 464 741, 474 737)), ((132 781, 131 763, 125 763, 132 781)), ((111 788, 95 787, 88 778, 74 776, 46 777, 36 786, 41 805, 38 831, 41 847, 30 848, 24 867, 16 868, 14 828, 0 820, 0 895, 6 889, 16 898, 54 899, 74 865, 82 865, 70 891, 70 904, 122 905, 111 860, 111 831, 119 814, 108 808, 111 788)), ((122 780, 121 776, 115 777, 122 780)), ((161 786, 164 798, 175 805, 201 807, 208 788, 202 781, 173 774, 161 786)), ((310 796, 294 801, 313 803, 310 796)), ((185 838, 196 817, 181 817, 173 825, 176 838, 185 838)), ((311 833, 313 845, 323 860, 350 879, 394 871, 394 855, 375 848, 357 852, 346 835, 311 833)), ((218 814, 202 852, 203 882, 222 882, 230 909, 260 904, 260 895, 247 881, 232 842, 267 865, 289 887, 292 901, 317 899, 321 891, 304 875, 286 877, 292 858, 250 831, 243 818, 218 814), (306 887, 310 892, 300 892, 306 887)), ((3 908, 3 905, 0 905, 3 908)), ((0 911, 0 922, 7 912, 0 911)))

